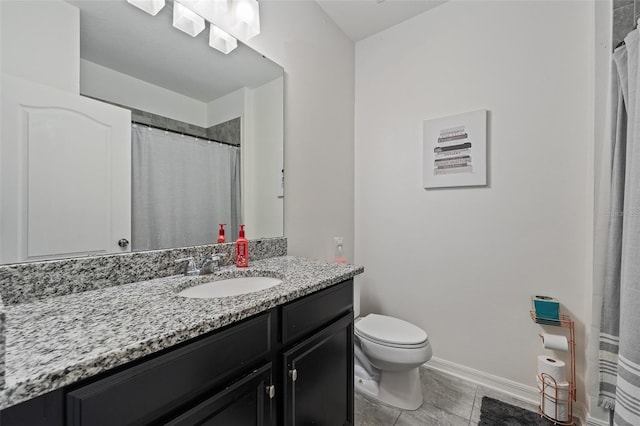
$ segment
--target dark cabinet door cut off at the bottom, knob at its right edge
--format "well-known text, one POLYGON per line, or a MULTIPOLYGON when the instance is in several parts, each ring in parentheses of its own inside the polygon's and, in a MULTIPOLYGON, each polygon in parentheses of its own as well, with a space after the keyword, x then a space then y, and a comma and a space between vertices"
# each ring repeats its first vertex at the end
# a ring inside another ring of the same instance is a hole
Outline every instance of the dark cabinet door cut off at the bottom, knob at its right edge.
POLYGON ((171 420, 167 425, 271 425, 275 397, 272 389, 269 363, 171 420))

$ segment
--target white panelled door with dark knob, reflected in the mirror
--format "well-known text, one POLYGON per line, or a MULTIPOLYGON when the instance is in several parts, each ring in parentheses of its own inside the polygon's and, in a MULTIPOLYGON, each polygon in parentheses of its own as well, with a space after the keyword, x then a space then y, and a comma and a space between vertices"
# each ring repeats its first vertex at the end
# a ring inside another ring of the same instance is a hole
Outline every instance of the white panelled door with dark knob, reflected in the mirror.
POLYGON ((130 251, 131 113, 2 75, 0 263, 130 251))

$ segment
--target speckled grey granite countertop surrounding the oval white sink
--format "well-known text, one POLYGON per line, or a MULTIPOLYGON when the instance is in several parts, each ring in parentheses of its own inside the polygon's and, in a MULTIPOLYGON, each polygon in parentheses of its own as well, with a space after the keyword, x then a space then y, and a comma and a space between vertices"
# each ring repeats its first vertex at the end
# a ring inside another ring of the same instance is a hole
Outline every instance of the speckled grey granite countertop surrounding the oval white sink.
POLYGON ((363 272, 355 265, 284 256, 215 275, 266 275, 282 284, 215 299, 177 293, 203 281, 171 276, 5 307, 0 409, 266 311, 363 272))

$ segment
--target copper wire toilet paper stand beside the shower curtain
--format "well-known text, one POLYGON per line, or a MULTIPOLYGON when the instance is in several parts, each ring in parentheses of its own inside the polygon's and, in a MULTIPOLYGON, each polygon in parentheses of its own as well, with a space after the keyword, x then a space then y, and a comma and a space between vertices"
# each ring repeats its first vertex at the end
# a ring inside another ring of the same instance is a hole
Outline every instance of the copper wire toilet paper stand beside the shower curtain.
MULTIPOLYGON (((542 417, 553 422, 553 424, 575 425, 575 422, 573 421, 573 402, 576 400, 576 341, 574 334, 574 322, 569 315, 560 315, 560 320, 557 324, 549 324, 549 322, 544 321, 544 319, 542 319, 542 321, 538 321, 539 318, 536 317, 535 311, 530 311, 530 315, 531 319, 535 323, 569 329, 569 388, 561 388, 553 377, 545 373, 538 376, 541 382, 538 386, 538 390, 540 391, 540 405, 538 406, 538 412, 542 417), (566 394, 565 397, 561 397, 563 393, 566 394), (550 402, 548 400, 550 400, 550 402), (545 410, 546 403, 553 403, 555 405, 555 409, 551 411, 551 414, 555 414, 554 417, 549 415, 549 410, 545 410), (559 404, 567 404, 566 420, 558 419, 559 404)), ((542 338, 542 334, 539 336, 542 338)))

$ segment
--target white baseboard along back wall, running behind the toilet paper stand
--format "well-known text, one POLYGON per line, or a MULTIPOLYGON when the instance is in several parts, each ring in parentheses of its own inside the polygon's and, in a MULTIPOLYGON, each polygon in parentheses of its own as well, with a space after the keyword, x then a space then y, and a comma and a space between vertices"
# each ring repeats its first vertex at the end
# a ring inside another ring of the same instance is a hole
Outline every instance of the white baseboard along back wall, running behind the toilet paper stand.
MULTIPOLYGON (((536 387, 523 385, 522 383, 514 382, 484 371, 475 370, 442 358, 432 357, 426 364, 424 364, 424 367, 442 371, 443 373, 451 374, 452 376, 456 376, 462 380, 467 380, 478 385, 491 388, 523 402, 536 405, 539 401, 539 393, 536 387)), ((608 422, 603 422, 602 420, 590 417, 586 412, 585 405, 579 402, 574 404, 573 416, 580 422, 580 424, 587 426, 609 426, 608 422), (585 422, 584 419, 587 419, 587 421, 585 422)))

